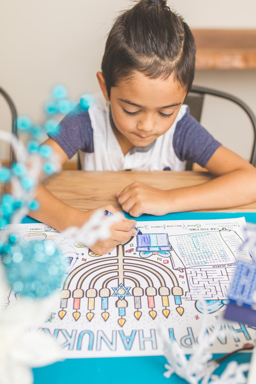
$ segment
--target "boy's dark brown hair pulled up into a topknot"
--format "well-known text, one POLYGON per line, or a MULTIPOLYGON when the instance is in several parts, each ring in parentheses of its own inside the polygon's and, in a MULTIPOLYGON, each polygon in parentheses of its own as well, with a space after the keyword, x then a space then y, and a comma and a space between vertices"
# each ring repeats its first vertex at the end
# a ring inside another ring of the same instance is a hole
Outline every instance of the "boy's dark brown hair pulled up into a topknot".
POLYGON ((107 93, 121 79, 139 71, 150 79, 171 73, 191 89, 195 74, 195 40, 181 16, 163 0, 140 0, 117 17, 109 32, 101 69, 107 93))

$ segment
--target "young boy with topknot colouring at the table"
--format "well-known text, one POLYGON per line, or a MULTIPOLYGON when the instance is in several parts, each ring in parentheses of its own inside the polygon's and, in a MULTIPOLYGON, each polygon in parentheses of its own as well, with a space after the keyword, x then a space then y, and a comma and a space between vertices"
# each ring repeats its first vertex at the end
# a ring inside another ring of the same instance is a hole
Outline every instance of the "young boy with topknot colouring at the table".
MULTIPOLYGON (((85 170, 182 170, 190 160, 217 177, 192 187, 160 190, 128 185, 116 197, 130 215, 233 207, 256 199, 256 169, 221 146, 183 105, 195 71, 195 41, 165 1, 140 0, 112 26, 97 79, 103 96, 89 110, 80 105, 45 142, 64 164, 80 150, 85 170)), ((168 172, 166 173, 168 177, 168 172)), ((58 230, 80 227, 83 212, 38 188, 40 209, 31 216, 58 230)), ((103 207, 120 214, 111 206, 103 207)), ((122 215, 121 215, 122 216, 122 215)), ((137 232, 135 220, 111 228, 111 238, 92 250, 106 254, 137 232)))

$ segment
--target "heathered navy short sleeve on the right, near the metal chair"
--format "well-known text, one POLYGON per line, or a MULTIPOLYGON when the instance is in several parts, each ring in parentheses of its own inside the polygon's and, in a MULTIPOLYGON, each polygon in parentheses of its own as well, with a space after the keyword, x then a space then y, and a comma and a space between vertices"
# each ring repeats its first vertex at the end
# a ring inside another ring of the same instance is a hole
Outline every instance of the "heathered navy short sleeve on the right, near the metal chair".
POLYGON ((181 160, 188 160, 205 167, 221 143, 214 139, 199 122, 189 114, 189 108, 177 122, 173 134, 173 149, 181 160))

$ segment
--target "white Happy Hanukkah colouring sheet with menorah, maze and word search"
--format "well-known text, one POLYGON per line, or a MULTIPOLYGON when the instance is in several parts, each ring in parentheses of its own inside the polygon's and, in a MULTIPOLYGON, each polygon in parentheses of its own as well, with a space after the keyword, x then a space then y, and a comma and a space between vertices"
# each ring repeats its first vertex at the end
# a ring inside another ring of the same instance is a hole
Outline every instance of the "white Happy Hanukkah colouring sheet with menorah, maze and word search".
MULTIPOLYGON (((58 303, 39 331, 57 339, 66 358, 161 355, 163 337, 189 354, 203 316, 209 334, 230 330, 211 353, 254 343, 253 327, 223 319, 236 260, 251 260, 240 250, 244 218, 137 224, 142 234, 108 255, 45 224, 15 227, 23 242, 54 242, 67 265, 58 303)), ((7 301, 15 300, 8 292, 7 301)))

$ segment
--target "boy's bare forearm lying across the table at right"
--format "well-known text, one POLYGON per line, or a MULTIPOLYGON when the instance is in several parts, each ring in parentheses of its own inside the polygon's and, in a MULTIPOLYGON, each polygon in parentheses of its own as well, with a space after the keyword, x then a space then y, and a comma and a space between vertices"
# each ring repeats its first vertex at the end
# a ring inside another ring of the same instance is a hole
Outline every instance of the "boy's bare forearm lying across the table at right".
POLYGON ((169 212, 222 209, 256 200, 256 171, 237 169, 204 184, 168 191, 169 212))

